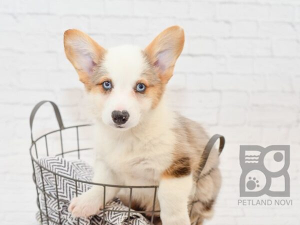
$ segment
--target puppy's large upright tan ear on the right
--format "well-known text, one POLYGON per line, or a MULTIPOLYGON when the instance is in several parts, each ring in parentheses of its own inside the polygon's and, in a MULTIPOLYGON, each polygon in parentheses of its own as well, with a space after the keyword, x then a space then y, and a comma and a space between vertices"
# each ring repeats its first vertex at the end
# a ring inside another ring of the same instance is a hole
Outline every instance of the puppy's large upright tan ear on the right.
POLYGON ((158 67, 162 82, 166 83, 171 78, 183 45, 183 29, 180 26, 171 26, 159 33, 145 48, 151 63, 158 67))

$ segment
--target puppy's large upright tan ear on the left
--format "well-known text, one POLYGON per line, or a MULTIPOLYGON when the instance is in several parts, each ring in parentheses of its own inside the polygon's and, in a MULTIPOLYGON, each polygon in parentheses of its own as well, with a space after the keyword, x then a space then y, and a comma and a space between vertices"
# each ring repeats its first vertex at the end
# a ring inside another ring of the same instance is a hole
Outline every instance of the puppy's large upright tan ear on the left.
POLYGON ((63 44, 66 57, 75 67, 79 80, 88 84, 94 67, 100 62, 105 49, 77 29, 68 29, 64 32, 63 44))

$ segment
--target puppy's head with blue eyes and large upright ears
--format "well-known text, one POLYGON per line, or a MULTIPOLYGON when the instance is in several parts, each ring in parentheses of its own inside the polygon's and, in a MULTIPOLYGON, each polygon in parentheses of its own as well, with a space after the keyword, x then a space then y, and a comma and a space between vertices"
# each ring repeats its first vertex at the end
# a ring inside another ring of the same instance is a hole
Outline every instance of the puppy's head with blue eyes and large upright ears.
POLYGON ((66 57, 92 98, 95 116, 119 130, 136 126, 157 106, 183 43, 179 26, 163 30, 145 49, 105 49, 79 30, 64 32, 66 57))

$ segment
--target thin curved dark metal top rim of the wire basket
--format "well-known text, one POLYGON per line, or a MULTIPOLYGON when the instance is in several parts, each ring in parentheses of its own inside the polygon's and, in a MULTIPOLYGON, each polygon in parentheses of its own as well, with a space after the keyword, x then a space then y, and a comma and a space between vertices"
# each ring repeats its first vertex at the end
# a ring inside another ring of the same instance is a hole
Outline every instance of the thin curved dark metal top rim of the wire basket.
MULTIPOLYGON (((69 177, 69 176, 66 176, 66 175, 63 175, 63 174, 59 174, 57 172, 54 172, 46 167, 44 167, 43 165, 41 165, 37 159, 33 156, 32 154, 32 150, 33 150, 33 146, 35 146, 35 149, 36 149, 36 142, 38 140, 40 140, 41 138, 45 137, 46 135, 48 134, 51 134, 51 133, 54 133, 54 132, 58 132, 58 131, 61 131, 61 130, 64 130, 64 129, 70 129, 70 128, 75 128, 75 127, 83 127, 83 126, 90 126, 92 124, 80 124, 80 125, 72 125, 72 126, 67 126, 67 127, 63 127, 63 128, 59 128, 59 129, 55 129, 55 130, 52 130, 50 132, 47 132, 39 137, 37 137, 35 140, 32 140, 31 142, 31 145, 29 147, 29 154, 30 154, 30 157, 31 157, 31 160, 32 160, 32 164, 33 164, 33 161, 38 165, 38 167, 40 168, 43 168, 45 169, 46 171, 54 174, 55 176, 60 176, 60 177, 63 177, 63 178, 66 178, 66 179, 70 179, 70 180, 73 180, 75 182, 80 182, 80 183, 87 183, 87 184, 91 184, 91 185, 97 185, 97 186, 103 186, 103 188, 105 188, 106 186, 107 187, 119 187, 119 188, 158 188, 158 185, 117 185, 117 184, 107 184, 107 183, 97 183, 97 182, 92 182, 92 181, 85 181, 85 180, 80 180, 80 179, 75 179, 75 178, 72 178, 72 177, 69 177)), ((90 148, 91 149, 91 148, 90 148)), ((79 149, 80 150, 80 149, 79 149)), ((82 150, 82 149, 81 149, 82 150)))

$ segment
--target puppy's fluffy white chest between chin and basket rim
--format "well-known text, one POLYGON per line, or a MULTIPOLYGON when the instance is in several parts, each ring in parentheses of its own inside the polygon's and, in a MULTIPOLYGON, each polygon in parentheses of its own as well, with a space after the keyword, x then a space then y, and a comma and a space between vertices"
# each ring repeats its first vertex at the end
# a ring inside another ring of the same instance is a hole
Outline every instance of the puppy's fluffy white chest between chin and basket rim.
POLYGON ((161 133, 144 132, 142 137, 116 136, 102 129, 99 130, 101 140, 96 142, 99 159, 105 161, 120 180, 131 178, 140 182, 135 185, 158 181, 172 161, 174 138, 169 129, 161 133))

